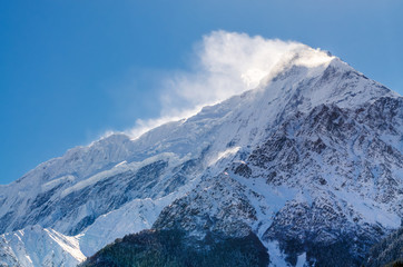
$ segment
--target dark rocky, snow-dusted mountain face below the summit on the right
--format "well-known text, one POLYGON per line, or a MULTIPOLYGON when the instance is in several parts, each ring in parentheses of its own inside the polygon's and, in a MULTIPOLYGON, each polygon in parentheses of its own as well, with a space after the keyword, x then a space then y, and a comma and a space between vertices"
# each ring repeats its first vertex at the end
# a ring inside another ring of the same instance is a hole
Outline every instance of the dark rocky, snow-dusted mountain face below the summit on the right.
POLYGON ((253 230, 278 243, 289 265, 305 254, 309 265, 358 266, 402 217, 403 156, 392 141, 402 110, 401 98, 380 98, 355 110, 321 105, 291 115, 245 161, 165 208, 154 227, 253 230))

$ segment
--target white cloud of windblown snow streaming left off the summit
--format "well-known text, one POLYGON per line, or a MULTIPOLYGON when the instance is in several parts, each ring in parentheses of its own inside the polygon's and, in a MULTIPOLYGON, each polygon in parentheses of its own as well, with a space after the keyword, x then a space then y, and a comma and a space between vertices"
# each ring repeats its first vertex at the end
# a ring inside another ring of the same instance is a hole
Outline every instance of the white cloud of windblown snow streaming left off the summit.
POLYGON ((191 116, 203 106, 253 89, 284 53, 302 46, 261 36, 213 31, 195 46, 190 70, 174 71, 161 81, 160 118, 138 120, 128 132, 138 137, 164 122, 191 116))

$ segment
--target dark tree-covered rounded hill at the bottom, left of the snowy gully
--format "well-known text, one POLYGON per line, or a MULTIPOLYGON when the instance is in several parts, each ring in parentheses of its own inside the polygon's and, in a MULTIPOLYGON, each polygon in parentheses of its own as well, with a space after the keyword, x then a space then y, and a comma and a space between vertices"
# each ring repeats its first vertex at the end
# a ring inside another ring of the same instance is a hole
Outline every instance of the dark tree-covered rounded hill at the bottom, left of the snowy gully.
POLYGON ((145 230, 106 246, 80 267, 266 267, 268 255, 258 238, 208 234, 203 240, 183 230, 145 230))

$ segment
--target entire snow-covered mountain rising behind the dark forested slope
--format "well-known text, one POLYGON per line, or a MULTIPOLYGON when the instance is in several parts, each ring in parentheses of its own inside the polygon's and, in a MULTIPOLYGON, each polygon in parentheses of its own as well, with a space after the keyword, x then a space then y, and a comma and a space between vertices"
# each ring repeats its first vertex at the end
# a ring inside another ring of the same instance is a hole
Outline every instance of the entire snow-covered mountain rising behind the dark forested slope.
POLYGON ((321 247, 350 240, 354 266, 403 217, 402 135, 402 97, 302 47, 254 90, 1 186, 1 258, 75 266, 126 234, 175 226, 254 231, 277 266, 320 263, 321 247))

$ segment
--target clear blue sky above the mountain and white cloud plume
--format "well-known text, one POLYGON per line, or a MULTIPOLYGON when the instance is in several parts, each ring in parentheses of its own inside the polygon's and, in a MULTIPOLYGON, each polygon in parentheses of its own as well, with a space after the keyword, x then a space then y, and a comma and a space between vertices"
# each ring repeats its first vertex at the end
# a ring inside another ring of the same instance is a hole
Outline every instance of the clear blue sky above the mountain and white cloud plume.
POLYGON ((403 93, 403 1, 1 1, 0 184, 160 116, 160 81, 215 30, 330 50, 403 93))

